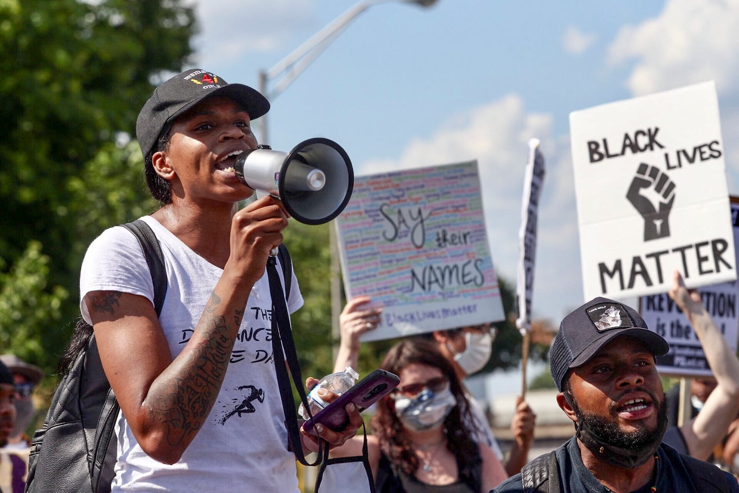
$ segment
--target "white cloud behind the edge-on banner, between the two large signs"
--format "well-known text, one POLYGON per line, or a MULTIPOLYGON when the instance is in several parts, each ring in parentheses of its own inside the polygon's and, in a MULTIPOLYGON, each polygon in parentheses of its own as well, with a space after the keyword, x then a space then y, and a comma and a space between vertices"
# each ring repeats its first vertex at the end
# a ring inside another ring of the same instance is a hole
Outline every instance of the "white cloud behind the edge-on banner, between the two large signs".
POLYGON ((553 137, 552 120, 551 115, 525 112, 519 95, 506 95, 441 123, 443 130, 430 137, 416 137, 398 160, 367 161, 356 173, 477 160, 494 265, 515 286, 528 140, 539 138, 547 171, 539 205, 534 316, 556 319, 582 303, 582 277, 569 137, 553 137))

